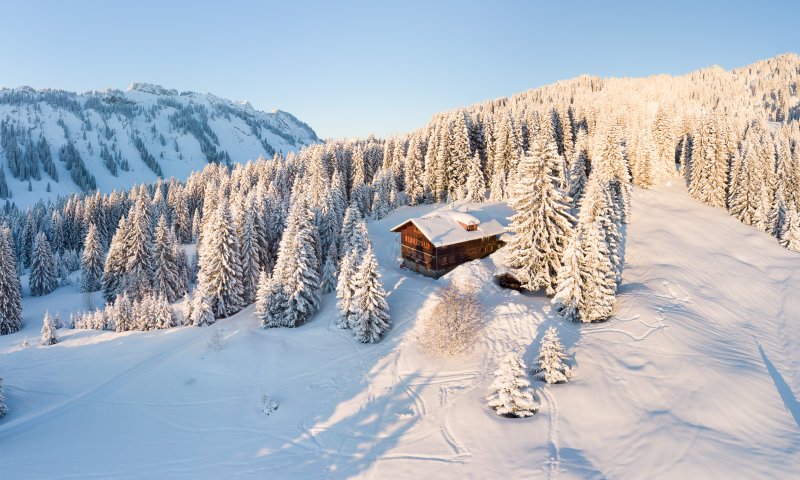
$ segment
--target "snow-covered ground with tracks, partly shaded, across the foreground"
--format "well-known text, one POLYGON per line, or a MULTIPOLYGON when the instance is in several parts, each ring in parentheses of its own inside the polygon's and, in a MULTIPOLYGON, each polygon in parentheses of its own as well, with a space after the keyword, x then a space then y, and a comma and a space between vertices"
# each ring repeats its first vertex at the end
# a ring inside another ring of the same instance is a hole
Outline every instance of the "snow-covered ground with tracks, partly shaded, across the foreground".
POLYGON ((388 232, 432 209, 369 225, 394 322, 376 345, 335 329, 329 295, 297 329, 261 330, 249 308, 39 347, 45 308, 87 299, 25 298, 24 330, 0 337, 4 478, 796 478, 800 255, 682 187, 636 190, 613 318, 566 324, 545 297, 499 289, 501 250, 446 277, 479 287, 490 313, 473 352, 440 360, 417 338, 445 280, 401 270, 388 232), (530 363, 550 325, 574 380, 534 382, 532 418, 497 417, 496 361, 519 348, 530 363), (263 394, 280 403, 270 415, 263 394))

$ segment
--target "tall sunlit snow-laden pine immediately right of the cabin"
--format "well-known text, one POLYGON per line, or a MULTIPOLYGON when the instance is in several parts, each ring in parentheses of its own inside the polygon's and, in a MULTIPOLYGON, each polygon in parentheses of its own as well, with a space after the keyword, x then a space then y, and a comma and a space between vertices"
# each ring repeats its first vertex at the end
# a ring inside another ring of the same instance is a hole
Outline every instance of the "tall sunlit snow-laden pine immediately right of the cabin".
POLYGON ((532 155, 520 161, 518 183, 511 206, 513 215, 509 230, 515 235, 508 250, 515 276, 529 290, 544 287, 549 295, 555 292, 561 255, 572 234, 573 218, 570 199, 559 188, 553 172, 561 168, 561 157, 553 142, 532 147, 532 155))

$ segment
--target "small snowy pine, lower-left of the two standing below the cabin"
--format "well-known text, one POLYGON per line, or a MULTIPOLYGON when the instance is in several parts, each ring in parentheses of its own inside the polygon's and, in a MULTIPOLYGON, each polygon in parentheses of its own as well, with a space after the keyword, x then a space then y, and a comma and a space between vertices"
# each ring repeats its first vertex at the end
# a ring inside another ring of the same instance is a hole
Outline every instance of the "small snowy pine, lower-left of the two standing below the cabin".
POLYGON ((509 352, 494 372, 488 405, 503 417, 530 417, 539 409, 533 400, 525 363, 516 352, 509 352))

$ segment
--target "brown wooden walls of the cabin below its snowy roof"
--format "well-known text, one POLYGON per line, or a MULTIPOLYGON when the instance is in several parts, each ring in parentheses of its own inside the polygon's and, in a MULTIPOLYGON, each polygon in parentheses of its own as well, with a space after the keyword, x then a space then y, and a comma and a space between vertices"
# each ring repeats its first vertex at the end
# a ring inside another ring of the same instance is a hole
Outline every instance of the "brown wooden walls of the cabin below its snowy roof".
POLYGON ((499 235, 437 247, 412 222, 400 228, 403 265, 429 277, 440 277, 464 262, 483 258, 502 246, 499 235))

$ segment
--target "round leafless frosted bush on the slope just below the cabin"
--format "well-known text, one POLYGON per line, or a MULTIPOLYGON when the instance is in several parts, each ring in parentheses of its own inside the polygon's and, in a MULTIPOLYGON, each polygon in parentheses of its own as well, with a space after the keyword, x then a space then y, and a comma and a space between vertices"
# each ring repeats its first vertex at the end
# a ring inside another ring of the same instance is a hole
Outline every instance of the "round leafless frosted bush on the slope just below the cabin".
POLYGON ((435 355, 455 356, 468 350, 483 326, 484 308, 478 295, 450 283, 439 292, 425 319, 420 344, 435 355))

